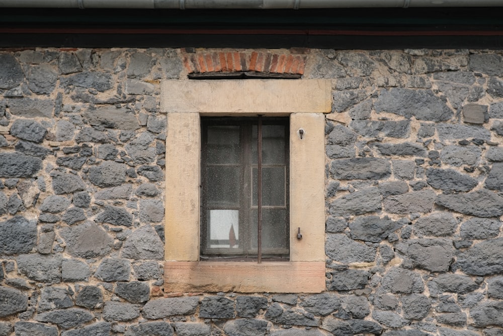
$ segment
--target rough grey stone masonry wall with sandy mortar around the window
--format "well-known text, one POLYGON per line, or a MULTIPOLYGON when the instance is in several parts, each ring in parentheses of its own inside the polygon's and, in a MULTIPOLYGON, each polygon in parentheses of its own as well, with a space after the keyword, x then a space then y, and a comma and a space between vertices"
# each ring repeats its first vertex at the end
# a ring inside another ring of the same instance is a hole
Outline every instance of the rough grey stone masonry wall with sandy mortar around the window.
POLYGON ((186 52, 0 49, 1 336, 503 334, 502 52, 301 50, 334 98, 315 295, 163 292, 186 52))

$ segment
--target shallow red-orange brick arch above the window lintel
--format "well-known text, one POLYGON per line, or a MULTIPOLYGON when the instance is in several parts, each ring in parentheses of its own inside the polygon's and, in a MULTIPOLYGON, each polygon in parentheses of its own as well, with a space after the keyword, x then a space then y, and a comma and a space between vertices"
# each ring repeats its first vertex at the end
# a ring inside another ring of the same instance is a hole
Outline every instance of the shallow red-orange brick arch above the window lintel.
POLYGON ((189 74, 256 72, 303 75, 307 60, 300 52, 268 51, 195 51, 182 53, 189 74))

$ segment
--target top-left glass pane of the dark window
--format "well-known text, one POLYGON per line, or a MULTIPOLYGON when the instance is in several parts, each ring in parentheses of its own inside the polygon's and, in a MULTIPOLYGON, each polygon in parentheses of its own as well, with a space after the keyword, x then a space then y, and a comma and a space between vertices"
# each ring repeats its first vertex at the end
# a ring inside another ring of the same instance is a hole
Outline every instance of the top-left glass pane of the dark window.
POLYGON ((208 126, 208 164, 239 163, 239 126, 208 126))

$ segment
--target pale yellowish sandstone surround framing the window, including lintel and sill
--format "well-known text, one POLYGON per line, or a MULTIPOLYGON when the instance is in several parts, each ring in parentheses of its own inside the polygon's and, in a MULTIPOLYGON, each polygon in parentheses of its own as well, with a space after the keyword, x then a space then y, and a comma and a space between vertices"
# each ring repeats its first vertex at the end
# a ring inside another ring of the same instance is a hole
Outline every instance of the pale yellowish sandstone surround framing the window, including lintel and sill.
POLYGON ((325 289, 324 126, 328 80, 165 80, 164 291, 325 289), (290 116, 290 261, 199 261, 200 116, 290 116), (303 139, 299 129, 303 129, 303 139), (302 239, 297 239, 297 228, 302 239))

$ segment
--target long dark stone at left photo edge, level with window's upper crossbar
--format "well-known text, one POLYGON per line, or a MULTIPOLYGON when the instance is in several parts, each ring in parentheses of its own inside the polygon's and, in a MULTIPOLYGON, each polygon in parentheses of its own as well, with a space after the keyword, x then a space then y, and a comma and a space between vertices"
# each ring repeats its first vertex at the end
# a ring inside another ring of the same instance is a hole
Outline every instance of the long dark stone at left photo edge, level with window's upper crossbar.
POLYGON ((0 177, 32 177, 42 169, 42 160, 21 153, 0 153, 0 177))

